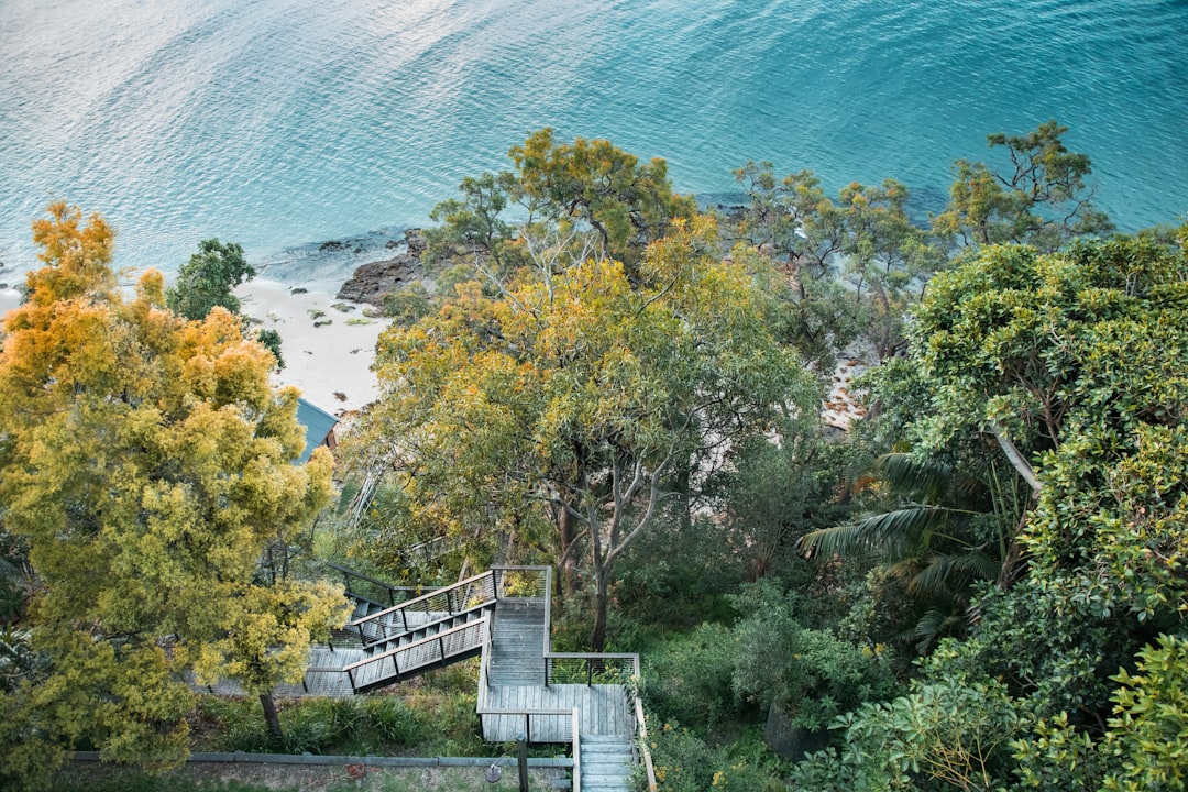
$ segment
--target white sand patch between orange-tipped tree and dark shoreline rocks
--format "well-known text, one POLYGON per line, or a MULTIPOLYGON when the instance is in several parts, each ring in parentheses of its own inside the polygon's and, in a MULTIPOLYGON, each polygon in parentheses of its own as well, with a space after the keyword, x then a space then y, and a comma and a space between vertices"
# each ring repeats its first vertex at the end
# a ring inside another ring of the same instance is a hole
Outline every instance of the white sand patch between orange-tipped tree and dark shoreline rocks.
POLYGON ((379 398, 371 365, 375 359, 375 341, 387 319, 365 317, 364 305, 316 290, 329 285, 307 287, 309 292, 292 294, 287 284, 257 278, 236 289, 235 294, 245 316, 260 319, 261 328, 280 334, 285 367, 273 381, 296 385, 307 400, 341 417, 379 398))

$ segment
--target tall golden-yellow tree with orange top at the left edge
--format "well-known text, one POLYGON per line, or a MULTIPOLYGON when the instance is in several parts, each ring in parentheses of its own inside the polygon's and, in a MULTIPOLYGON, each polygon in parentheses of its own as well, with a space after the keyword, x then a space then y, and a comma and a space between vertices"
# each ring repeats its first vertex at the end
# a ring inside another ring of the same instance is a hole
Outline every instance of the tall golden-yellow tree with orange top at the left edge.
MULTIPOLYGON (((328 454, 291 464, 297 393, 268 386, 268 351, 221 308, 198 322, 163 310, 157 272, 126 302, 109 227, 81 223, 64 203, 34 223, 46 266, 0 353, 0 502, 29 546, 31 641, 51 661, 2 702, 7 775, 81 740, 114 760, 182 759, 183 673, 234 659, 234 632, 271 617, 252 582, 260 553, 330 498, 328 454)), ((318 623, 277 635, 282 651, 302 653, 340 604, 293 590, 286 607, 318 623)))

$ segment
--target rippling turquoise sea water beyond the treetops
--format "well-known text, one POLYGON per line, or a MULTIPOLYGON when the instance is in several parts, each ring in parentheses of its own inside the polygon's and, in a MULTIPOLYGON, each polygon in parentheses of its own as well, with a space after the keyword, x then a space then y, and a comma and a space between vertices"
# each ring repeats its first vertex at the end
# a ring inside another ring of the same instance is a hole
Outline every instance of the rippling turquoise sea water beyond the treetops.
POLYGON ((1136 229, 1188 211, 1186 42, 1183 0, 0 0, 0 261, 63 197, 122 266, 219 236, 345 277, 320 242, 379 255, 545 125, 681 191, 769 159, 939 208, 986 133, 1057 118, 1136 229))

